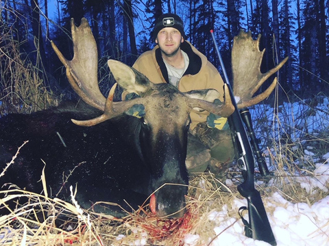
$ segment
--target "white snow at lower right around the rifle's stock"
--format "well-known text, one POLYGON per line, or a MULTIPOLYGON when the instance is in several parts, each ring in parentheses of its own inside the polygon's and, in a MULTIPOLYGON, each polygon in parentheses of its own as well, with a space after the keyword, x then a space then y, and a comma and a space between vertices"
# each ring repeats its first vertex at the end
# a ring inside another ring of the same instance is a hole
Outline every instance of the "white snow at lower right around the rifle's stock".
MULTIPOLYGON (((307 184, 306 189, 308 186, 313 186, 328 191, 324 184, 328 186, 329 183, 329 164, 317 164, 315 171, 319 176, 304 177, 307 182, 300 178, 301 184, 302 182, 307 184)), ((270 197, 263 197, 263 203, 266 204, 267 211, 273 210, 272 213, 267 212, 267 216, 278 246, 329 245, 329 196, 309 206, 304 202, 288 202, 276 192, 270 197)), ((236 198, 232 203, 232 209, 239 210, 241 206, 246 205, 247 200, 236 198)), ((210 238, 212 241, 209 245, 270 245, 244 236, 242 221, 228 218, 227 210, 228 206, 224 205, 222 210, 212 210, 209 213, 208 220, 215 222, 216 226, 213 230, 217 235, 213 240, 210 238)), ((184 245, 197 245, 193 244, 195 238, 198 238, 198 235, 186 235, 184 245)))

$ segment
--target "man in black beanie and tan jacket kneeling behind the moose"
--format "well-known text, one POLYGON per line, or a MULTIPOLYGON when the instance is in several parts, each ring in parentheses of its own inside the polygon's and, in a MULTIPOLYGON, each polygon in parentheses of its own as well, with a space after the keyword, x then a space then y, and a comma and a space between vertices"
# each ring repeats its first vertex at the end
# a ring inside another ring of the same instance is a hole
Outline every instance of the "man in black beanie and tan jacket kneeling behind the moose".
MULTIPOLYGON (((181 92, 215 89, 223 100, 223 79, 206 56, 188 41, 182 19, 176 14, 162 14, 152 33, 156 46, 146 51, 133 65, 154 83, 171 83, 181 92)), ((207 111, 191 112, 186 167, 190 172, 204 172, 206 167, 219 172, 234 157, 234 148, 226 118, 207 111), (207 124, 208 123, 208 124, 207 124)))

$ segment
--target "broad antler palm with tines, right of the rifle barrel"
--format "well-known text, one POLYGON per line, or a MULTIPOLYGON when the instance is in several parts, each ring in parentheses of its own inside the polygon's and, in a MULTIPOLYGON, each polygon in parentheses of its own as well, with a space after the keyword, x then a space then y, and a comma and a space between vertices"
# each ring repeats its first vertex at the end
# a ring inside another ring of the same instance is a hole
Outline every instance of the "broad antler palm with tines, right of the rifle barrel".
POLYGON ((240 31, 238 36, 234 37, 232 47, 232 73, 233 73, 233 93, 234 96, 239 97, 239 109, 256 105, 258 102, 264 100, 271 94, 276 87, 277 78, 273 79, 271 85, 258 96, 254 94, 259 87, 272 75, 277 72, 288 57, 264 74, 260 72, 260 65, 262 63, 263 51, 259 50, 260 34, 257 40, 252 39, 252 33, 240 31))

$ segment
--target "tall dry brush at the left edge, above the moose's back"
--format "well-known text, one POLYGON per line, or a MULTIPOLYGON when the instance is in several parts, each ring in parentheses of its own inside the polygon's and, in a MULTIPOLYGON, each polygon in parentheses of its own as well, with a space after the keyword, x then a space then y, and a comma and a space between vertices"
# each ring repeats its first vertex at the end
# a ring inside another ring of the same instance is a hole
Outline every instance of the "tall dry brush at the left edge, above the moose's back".
POLYGON ((20 49, 27 40, 17 41, 17 30, 5 27, 1 21, 0 25, 0 115, 31 113, 58 105, 58 98, 46 86, 48 79, 38 46, 33 63, 20 49))

